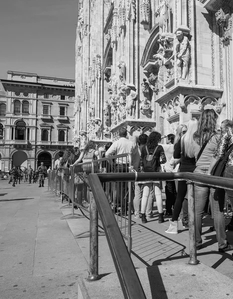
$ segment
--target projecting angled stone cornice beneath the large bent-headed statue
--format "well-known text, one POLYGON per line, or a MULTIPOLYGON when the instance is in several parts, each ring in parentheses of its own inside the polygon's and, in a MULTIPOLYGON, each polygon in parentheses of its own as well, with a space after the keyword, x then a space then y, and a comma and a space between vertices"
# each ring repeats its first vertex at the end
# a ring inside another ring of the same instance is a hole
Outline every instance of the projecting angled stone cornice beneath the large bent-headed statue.
POLYGON ((159 98, 155 101, 157 103, 164 104, 168 100, 173 99, 175 96, 179 94, 186 95, 203 95, 203 96, 214 96, 215 98, 219 98, 223 94, 223 89, 216 88, 213 86, 204 86, 204 85, 177 85, 174 86, 169 92, 159 96, 159 98))

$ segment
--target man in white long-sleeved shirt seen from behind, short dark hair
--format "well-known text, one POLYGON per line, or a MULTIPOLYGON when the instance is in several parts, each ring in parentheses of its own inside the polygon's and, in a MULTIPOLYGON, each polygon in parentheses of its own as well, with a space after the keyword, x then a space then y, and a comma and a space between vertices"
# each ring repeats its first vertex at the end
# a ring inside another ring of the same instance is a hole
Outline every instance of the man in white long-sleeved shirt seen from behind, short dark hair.
MULTIPOLYGON (((106 158, 111 157, 114 154, 126 154, 132 153, 135 145, 132 141, 129 141, 127 137, 127 130, 125 128, 120 128, 118 131, 119 139, 115 141, 112 146, 106 151, 106 158)), ((116 159, 116 173, 128 172, 128 161, 126 157, 116 159)), ((119 216, 127 215, 127 202, 128 197, 126 196, 126 182, 118 183, 117 196, 118 202, 121 204, 121 212, 119 216)), ((117 198, 117 197, 115 197, 117 198)))

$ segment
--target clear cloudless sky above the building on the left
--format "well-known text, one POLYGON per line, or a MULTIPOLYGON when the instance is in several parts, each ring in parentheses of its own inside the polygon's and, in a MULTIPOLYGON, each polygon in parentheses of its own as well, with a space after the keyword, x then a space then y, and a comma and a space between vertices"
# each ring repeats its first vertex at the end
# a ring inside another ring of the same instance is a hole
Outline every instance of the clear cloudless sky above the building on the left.
POLYGON ((0 79, 6 71, 75 78, 78 0, 0 1, 0 79))

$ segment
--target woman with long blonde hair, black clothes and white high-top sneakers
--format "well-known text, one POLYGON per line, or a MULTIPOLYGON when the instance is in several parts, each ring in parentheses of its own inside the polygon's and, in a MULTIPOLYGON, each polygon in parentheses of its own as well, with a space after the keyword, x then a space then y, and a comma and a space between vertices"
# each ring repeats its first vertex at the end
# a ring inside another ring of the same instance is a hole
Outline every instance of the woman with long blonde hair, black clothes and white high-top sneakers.
MULTIPOLYGON (((176 162, 180 161, 180 172, 193 172, 196 168, 196 159, 192 146, 193 135, 197 131, 198 121, 192 118, 187 127, 187 132, 183 135, 174 150, 173 157, 176 162)), ((169 228, 165 231, 168 234, 178 234, 178 218, 182 209, 182 204, 187 192, 186 181, 178 181, 176 201, 173 209, 172 219, 169 228)))

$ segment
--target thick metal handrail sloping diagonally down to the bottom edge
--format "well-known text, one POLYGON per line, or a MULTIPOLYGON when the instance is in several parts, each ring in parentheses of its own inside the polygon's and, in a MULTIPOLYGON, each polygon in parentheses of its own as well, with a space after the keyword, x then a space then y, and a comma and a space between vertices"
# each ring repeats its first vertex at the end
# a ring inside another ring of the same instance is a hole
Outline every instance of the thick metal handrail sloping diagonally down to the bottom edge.
MULTIPOLYGON (((119 282, 121 285, 124 298, 125 299, 128 298, 146 299, 140 280, 137 276, 136 270, 129 256, 127 247, 119 231, 113 211, 108 202, 105 191, 101 185, 99 175, 100 174, 94 174, 94 173, 89 174, 88 179, 106 233, 106 238, 114 260, 116 272, 119 278, 119 282)), ((94 226, 95 224, 93 223, 92 227, 94 226)), ((90 240, 90 246, 91 246, 91 240, 90 240)), ((90 268, 92 266, 93 265, 91 265, 90 262, 90 268)), ((90 275, 92 274, 90 273, 90 275)))

